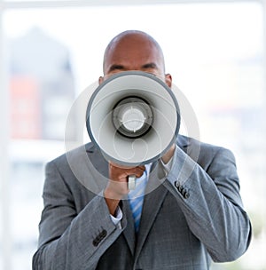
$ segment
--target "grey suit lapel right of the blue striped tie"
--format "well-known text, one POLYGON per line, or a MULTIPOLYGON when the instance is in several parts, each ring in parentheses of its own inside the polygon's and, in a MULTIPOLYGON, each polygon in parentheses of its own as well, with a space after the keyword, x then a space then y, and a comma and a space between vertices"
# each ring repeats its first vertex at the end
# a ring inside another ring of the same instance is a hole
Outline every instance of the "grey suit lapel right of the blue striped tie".
POLYGON ((155 166, 154 170, 150 174, 150 178, 146 187, 147 194, 145 195, 139 231, 137 234, 137 245, 135 250, 136 260, 140 251, 142 250, 146 237, 149 234, 151 227, 153 226, 153 222, 160 210, 160 206, 168 193, 168 190, 156 177, 158 173, 157 170, 158 166, 155 166))

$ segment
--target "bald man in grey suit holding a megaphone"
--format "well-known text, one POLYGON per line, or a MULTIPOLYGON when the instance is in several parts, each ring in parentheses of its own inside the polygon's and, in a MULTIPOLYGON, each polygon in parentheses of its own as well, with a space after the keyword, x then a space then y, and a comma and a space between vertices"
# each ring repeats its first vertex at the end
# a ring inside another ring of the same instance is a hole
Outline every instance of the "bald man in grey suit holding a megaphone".
MULTIPOLYGON (((126 31, 113 38, 99 83, 128 70, 151 73, 171 86, 160 45, 144 32, 126 31)), ((251 226, 229 150, 178 135, 157 163, 125 168, 107 163, 90 143, 70 156, 83 182, 98 187, 98 195, 77 180, 66 156, 46 166, 33 269, 207 270, 211 260, 235 260, 246 251, 251 226), (197 158, 192 155, 196 148, 197 158), (127 184, 132 174, 149 175, 146 189, 158 186, 146 193, 138 226, 127 184), (100 175, 109 179, 106 184, 100 184, 100 175)))

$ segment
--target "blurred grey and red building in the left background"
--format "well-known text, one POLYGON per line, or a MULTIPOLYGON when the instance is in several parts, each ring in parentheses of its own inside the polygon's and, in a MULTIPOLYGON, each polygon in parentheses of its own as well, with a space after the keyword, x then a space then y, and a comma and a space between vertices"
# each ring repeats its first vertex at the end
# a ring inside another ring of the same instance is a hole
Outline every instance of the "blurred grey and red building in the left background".
POLYGON ((11 42, 10 59, 12 138, 64 139, 74 100, 67 48, 33 28, 11 42))

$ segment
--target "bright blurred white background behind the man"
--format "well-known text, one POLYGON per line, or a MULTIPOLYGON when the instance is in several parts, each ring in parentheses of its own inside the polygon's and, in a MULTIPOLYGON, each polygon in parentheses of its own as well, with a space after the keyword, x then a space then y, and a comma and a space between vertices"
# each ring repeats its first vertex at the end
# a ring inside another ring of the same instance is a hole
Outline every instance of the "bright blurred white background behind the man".
MULTIPOLYGON (((236 156, 253 240, 236 262, 213 269, 266 269, 265 7, 266 1, 0 0, 0 270, 31 269, 43 165, 64 153, 69 109, 102 75, 106 45, 126 29, 159 42, 167 72, 198 117, 200 139, 236 156)), ((80 139, 75 129, 71 136, 80 139)))

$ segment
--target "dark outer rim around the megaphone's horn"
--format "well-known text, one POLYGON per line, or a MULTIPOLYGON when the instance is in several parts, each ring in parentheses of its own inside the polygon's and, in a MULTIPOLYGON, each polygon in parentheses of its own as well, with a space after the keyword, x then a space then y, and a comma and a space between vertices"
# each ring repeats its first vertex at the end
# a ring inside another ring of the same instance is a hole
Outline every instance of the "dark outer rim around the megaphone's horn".
MULTIPOLYGON (((176 100, 176 96, 173 93, 173 91, 168 87, 168 85, 163 82, 159 77, 157 77, 156 75, 153 75, 151 73, 147 73, 144 71, 138 71, 138 70, 130 70, 130 71, 122 71, 116 74, 111 75, 109 78, 107 78, 103 83, 100 83, 97 87, 97 89, 92 93, 88 106, 87 106, 87 110, 86 110, 86 128, 89 134, 89 137, 91 139, 91 142, 98 147, 98 149, 100 150, 100 152, 105 156, 105 158, 109 161, 113 161, 114 163, 121 163, 120 160, 117 160, 115 158, 113 158, 113 156, 110 156, 108 154, 106 154, 106 152, 98 146, 98 143, 96 141, 96 139, 94 139, 94 136, 92 135, 92 132, 90 131, 90 108, 92 106, 93 100, 95 99, 95 97, 98 94, 98 91, 100 91, 104 86, 106 86, 107 83, 110 83, 111 81, 113 81, 114 79, 121 77, 121 76, 126 76, 126 75, 142 75, 148 78, 153 79, 154 81, 156 81, 157 83, 160 83, 161 86, 163 86, 165 88, 166 91, 168 91, 168 94, 171 96, 171 98, 173 99, 175 106, 176 106, 176 112, 177 112, 177 124, 176 124, 176 131, 174 132, 173 135, 173 139, 169 142, 168 147, 166 147, 159 155, 155 155, 153 156, 153 158, 149 159, 149 160, 145 160, 145 162, 141 162, 141 163, 126 163, 126 162, 122 162, 122 165, 128 165, 128 166, 134 166, 134 165, 142 165, 142 164, 148 164, 148 163, 153 163, 155 160, 158 160, 162 155, 166 154, 168 152, 168 149, 176 142, 176 138, 180 129, 180 122, 181 122, 181 117, 180 117, 180 108, 178 105, 178 102, 176 100)), ((133 138, 132 140, 134 140, 135 138, 133 138)))

